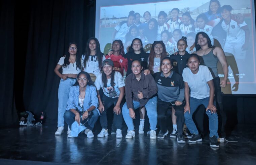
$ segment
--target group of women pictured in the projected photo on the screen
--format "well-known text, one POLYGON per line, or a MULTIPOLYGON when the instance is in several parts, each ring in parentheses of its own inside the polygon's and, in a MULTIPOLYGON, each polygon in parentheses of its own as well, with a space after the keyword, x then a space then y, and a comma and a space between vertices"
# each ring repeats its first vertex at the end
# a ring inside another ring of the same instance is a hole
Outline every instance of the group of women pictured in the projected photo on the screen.
MULTIPOLYGON (((141 15, 131 11, 127 21, 122 21, 114 28, 113 40, 121 40, 126 48, 131 45, 134 38, 142 40, 143 45, 152 44, 162 40, 169 54, 177 50, 177 42, 182 36, 195 39, 199 32, 205 32, 211 39, 212 45, 221 45, 225 52, 232 53, 236 59, 244 60, 249 42, 249 28, 241 15, 231 15, 232 7, 221 7, 218 0, 211 0, 209 10, 197 15, 195 20, 189 12, 182 12, 173 8, 171 17, 165 11, 160 11, 157 19, 152 18, 150 12, 143 14, 144 22, 140 21, 141 15), (214 39, 215 42, 214 43, 214 39)), ((193 42, 194 43, 194 42, 193 42)), ((188 44, 186 49, 192 46, 188 44)), ((190 53, 195 51, 191 50, 190 53)))

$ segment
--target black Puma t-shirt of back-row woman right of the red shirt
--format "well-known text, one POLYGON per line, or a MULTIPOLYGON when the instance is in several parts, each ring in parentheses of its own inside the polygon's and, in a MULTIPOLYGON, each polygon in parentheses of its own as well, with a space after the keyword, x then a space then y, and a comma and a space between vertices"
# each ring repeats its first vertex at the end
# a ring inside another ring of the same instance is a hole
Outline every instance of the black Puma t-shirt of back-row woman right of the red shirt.
POLYGON ((124 55, 125 58, 128 60, 127 72, 126 77, 132 73, 132 61, 133 60, 141 60, 143 70, 148 68, 148 56, 149 53, 141 52, 140 54, 135 54, 134 52, 128 52, 124 55))

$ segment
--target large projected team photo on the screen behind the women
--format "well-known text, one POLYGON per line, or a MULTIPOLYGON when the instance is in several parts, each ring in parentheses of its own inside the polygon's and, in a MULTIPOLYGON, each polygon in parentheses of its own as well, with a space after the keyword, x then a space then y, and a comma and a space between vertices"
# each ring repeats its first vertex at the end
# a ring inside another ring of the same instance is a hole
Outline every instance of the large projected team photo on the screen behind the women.
MULTIPOLYGON (((246 84, 255 84, 255 23, 251 0, 143 1, 141 4, 101 6, 98 18, 101 50, 111 49, 121 40, 125 53, 134 38, 140 38, 145 51, 154 41, 163 41, 167 52, 177 52, 177 41, 187 37, 188 53, 196 51, 195 35, 205 32, 214 46, 222 47, 228 62, 228 87, 224 93, 244 93, 246 84), (245 84, 245 85, 241 85, 245 84)), ((97 24, 96 21, 96 24, 97 24)), ((222 67, 218 73, 222 78, 222 67)), ((255 87, 255 86, 254 86, 255 87)), ((246 93, 246 92, 245 92, 246 93)))

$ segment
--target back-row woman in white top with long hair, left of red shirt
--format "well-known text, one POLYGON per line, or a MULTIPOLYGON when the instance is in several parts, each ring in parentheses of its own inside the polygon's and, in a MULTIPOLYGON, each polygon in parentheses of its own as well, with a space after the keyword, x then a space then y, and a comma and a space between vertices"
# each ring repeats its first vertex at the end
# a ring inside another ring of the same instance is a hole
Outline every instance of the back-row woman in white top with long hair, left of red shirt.
POLYGON ((87 40, 82 59, 83 70, 89 73, 92 80, 95 81, 96 77, 101 73, 102 61, 105 60, 97 38, 91 37, 87 40))

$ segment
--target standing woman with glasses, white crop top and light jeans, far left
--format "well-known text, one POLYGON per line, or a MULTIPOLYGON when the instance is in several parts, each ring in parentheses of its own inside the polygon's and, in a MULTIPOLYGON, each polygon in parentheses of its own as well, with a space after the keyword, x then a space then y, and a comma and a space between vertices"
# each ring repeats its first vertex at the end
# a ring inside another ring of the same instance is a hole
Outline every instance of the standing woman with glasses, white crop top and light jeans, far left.
MULTIPOLYGON (((77 55, 77 44, 69 43, 68 53, 61 57, 54 72, 61 78, 58 90, 58 129, 55 135, 64 132, 64 113, 69 98, 69 90, 76 82, 76 76, 81 71, 81 58, 77 55), (59 69, 62 68, 62 73, 59 69)), ((70 129, 68 128, 68 134, 70 129)))

